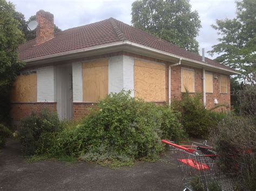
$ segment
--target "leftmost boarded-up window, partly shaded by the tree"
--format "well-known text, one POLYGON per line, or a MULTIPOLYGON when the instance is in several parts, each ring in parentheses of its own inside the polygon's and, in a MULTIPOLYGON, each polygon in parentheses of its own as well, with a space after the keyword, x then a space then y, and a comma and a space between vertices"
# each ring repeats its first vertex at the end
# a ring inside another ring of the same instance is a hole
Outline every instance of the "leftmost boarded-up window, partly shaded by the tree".
POLYGON ((27 73, 16 77, 11 90, 12 102, 37 101, 37 74, 27 73))

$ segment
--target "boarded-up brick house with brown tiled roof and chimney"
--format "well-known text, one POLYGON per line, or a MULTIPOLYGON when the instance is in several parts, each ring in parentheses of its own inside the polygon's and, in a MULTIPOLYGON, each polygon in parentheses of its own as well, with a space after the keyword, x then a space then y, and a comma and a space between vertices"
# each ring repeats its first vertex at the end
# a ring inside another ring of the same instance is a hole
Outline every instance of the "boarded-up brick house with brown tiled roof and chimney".
POLYGON ((230 105, 235 70, 109 18, 54 34, 53 15, 36 14, 36 39, 19 46, 26 66, 11 94, 11 115, 19 121, 49 108, 60 118, 86 115, 100 98, 131 89, 145 101, 171 103, 185 88, 203 93, 207 108, 230 105))

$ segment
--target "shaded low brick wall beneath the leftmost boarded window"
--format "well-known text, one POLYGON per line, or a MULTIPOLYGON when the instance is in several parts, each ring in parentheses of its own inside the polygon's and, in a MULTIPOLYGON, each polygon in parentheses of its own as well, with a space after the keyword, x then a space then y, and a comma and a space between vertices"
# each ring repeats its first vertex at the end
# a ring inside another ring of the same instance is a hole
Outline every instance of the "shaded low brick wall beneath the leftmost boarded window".
POLYGON ((11 103, 12 121, 20 121, 22 118, 31 114, 32 111, 39 112, 44 108, 56 112, 56 103, 44 102, 13 102, 11 103))

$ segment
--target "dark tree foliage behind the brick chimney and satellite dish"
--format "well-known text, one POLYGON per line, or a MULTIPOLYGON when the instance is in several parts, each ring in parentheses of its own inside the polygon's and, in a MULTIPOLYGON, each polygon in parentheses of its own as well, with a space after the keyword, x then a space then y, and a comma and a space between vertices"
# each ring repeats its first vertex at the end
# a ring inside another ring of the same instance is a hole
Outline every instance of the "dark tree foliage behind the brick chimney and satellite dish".
MULTIPOLYGON (((26 21, 24 15, 21 12, 15 11, 15 18, 21 24, 21 25, 19 25, 19 30, 21 30, 24 33, 26 40, 28 41, 28 40, 35 39, 36 38, 36 30, 29 31, 27 29, 27 26, 28 26, 29 22, 31 22, 31 20, 36 20, 36 16, 33 15, 29 18, 29 20, 26 21)), ((62 30, 59 29, 58 26, 54 25, 54 32, 56 33, 56 32, 60 32, 60 31, 62 31, 62 30)))

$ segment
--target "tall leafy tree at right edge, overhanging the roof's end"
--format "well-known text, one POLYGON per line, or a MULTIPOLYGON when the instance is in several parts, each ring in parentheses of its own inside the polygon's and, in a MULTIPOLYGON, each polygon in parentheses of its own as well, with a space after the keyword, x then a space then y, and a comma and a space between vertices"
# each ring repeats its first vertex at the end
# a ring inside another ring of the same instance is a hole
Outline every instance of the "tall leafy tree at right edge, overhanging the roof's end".
POLYGON ((256 1, 242 0, 237 4, 234 19, 217 20, 213 29, 221 35, 219 44, 212 51, 219 56, 215 59, 241 72, 238 76, 244 83, 256 84, 256 1))

